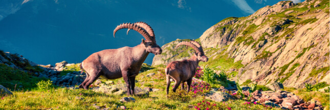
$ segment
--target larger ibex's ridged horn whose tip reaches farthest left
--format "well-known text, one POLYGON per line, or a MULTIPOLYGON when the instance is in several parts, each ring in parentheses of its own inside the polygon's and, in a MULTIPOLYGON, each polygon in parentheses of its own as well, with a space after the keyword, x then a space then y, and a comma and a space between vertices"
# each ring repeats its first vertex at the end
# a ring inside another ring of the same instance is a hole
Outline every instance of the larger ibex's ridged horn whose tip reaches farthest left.
MULTIPOLYGON (((148 32, 146 32, 143 28, 141 28, 140 26, 133 24, 133 23, 123 23, 120 24, 116 27, 116 29, 114 30, 114 37, 116 35, 116 32, 120 29, 132 29, 134 31, 139 32, 147 41, 152 41, 152 38, 150 37, 150 35, 148 34, 148 32)), ((115 37, 116 38, 116 37, 115 37)))

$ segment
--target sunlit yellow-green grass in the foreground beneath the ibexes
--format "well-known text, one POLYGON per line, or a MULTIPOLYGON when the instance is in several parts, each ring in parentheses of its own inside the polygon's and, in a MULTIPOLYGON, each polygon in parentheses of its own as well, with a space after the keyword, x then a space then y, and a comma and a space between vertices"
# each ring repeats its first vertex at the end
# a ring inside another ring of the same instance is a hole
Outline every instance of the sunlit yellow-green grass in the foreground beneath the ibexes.
MULTIPOLYGON (((126 95, 118 96, 112 94, 96 93, 91 90, 70 90, 61 87, 55 87, 49 90, 40 90, 36 86, 32 86, 28 91, 19 90, 13 92, 14 95, 3 96, 0 101, 0 109, 96 109, 92 104, 101 106, 101 108, 111 107, 111 109, 117 109, 117 105, 124 105, 128 109, 191 109, 198 102, 202 102, 203 96, 192 98, 187 102, 171 100, 166 97, 165 93, 165 75, 162 69, 152 69, 140 73, 137 76, 138 87, 151 87, 160 89, 158 92, 150 92, 149 97, 137 97, 131 96, 136 99, 136 102, 122 103, 119 100, 126 95), (154 72, 155 75, 147 77, 146 75, 154 72), (152 82, 153 81, 153 82, 152 82), (76 99, 76 97, 83 98, 82 100, 76 99)), ((30 77, 34 79, 35 77, 30 77)), ((101 79, 101 81, 106 81, 101 79)), ((113 80, 115 84, 124 83, 122 78, 113 80)), ((35 84, 33 84, 35 85, 35 84)), ((179 87, 180 88, 180 87, 179 87)), ((206 100, 213 102, 211 100, 206 100)), ((242 105, 244 100, 231 100, 226 103, 213 102, 217 104, 217 107, 227 109, 231 107, 234 109, 264 109, 262 105, 242 105)), ((273 108, 274 109, 274 108, 273 108)))

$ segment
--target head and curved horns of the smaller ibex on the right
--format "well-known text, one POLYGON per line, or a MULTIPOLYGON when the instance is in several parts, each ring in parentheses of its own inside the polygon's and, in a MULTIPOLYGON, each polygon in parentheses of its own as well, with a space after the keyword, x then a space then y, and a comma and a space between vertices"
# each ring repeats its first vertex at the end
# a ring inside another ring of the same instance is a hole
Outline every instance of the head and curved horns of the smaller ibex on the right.
POLYGON ((199 61, 207 62, 209 60, 209 58, 205 56, 203 48, 200 43, 196 41, 180 42, 175 48, 178 48, 180 45, 187 45, 192 47, 195 50, 195 56, 199 61))

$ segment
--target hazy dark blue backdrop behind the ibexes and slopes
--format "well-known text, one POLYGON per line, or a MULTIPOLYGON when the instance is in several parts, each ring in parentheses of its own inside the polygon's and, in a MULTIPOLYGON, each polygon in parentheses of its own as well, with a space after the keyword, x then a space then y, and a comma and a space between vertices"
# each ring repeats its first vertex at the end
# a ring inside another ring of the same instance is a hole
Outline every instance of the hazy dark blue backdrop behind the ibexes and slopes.
MULTIPOLYGON (((55 65, 81 63, 92 53, 124 46, 134 47, 139 33, 117 25, 143 21, 155 31, 162 46, 176 39, 197 39, 227 17, 248 16, 270 0, 2 0, 0 50, 18 53, 32 62, 55 65)), ((294 3, 302 2, 300 0, 294 3)), ((145 63, 151 64, 150 53, 145 63)))

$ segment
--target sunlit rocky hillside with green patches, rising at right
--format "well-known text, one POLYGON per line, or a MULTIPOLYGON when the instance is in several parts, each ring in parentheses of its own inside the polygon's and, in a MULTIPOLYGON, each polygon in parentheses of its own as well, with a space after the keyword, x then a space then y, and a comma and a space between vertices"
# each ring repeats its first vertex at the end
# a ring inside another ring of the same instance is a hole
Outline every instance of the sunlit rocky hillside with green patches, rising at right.
MULTIPOLYGON (((188 59, 191 49, 173 48, 181 41, 162 46, 152 65, 188 59)), ((223 19, 196 41, 210 59, 201 66, 225 71, 240 84, 329 84, 329 1, 282 1, 247 17, 223 19)))

